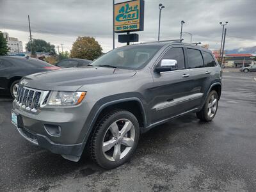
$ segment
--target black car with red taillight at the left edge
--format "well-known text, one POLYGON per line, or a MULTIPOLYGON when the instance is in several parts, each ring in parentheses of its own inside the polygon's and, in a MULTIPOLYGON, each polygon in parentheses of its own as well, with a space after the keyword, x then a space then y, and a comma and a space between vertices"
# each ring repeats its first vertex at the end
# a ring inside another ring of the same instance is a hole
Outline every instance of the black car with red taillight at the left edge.
POLYGON ((35 58, 0 56, 0 93, 1 95, 12 95, 15 99, 22 77, 58 68, 60 67, 35 58))

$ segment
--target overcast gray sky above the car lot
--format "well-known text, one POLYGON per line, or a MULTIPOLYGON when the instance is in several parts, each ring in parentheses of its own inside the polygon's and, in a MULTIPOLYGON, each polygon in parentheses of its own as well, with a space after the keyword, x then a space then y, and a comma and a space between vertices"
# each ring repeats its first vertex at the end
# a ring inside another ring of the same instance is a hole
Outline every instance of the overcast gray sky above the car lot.
MULTIPOLYGON (((116 3, 120 0, 116 0, 116 3)), ((163 3, 161 40, 179 38, 180 20, 184 31, 193 33, 193 42, 209 44, 219 49, 220 21, 228 20, 226 48, 256 45, 256 1, 154 1, 145 0, 145 29, 138 32, 140 41, 157 39, 158 4, 163 3)), ((0 0, 0 30, 28 42, 28 15, 31 17, 33 38, 42 38, 54 45, 63 44, 70 50, 77 36, 94 36, 103 51, 112 49, 112 1, 29 1, 0 0), (18 10, 18 11, 17 11, 18 10)), ((184 35, 189 42, 190 36, 184 35)), ((117 43, 120 46, 123 44, 117 43)))

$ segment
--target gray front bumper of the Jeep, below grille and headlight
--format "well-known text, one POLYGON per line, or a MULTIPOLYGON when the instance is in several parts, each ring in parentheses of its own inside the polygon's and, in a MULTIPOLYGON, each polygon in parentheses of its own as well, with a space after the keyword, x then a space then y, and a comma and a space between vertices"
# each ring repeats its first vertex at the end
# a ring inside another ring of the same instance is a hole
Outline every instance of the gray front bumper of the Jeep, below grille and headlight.
POLYGON ((12 111, 18 115, 17 130, 26 140, 67 158, 79 157, 83 152, 86 141, 81 139, 84 138, 81 134, 87 132, 83 129, 92 107, 93 103, 86 102, 68 108, 45 106, 40 113, 33 114, 13 102, 12 111), (60 127, 60 135, 50 134, 47 125, 60 127))

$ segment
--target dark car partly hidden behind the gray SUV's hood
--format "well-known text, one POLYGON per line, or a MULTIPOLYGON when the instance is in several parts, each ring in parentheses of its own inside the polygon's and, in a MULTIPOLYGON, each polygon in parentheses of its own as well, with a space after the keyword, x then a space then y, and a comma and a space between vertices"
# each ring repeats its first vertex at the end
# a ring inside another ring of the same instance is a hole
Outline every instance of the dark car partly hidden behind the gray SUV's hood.
POLYGON ((61 68, 84 67, 90 65, 90 63, 92 63, 91 60, 67 59, 56 63, 56 66, 61 68))

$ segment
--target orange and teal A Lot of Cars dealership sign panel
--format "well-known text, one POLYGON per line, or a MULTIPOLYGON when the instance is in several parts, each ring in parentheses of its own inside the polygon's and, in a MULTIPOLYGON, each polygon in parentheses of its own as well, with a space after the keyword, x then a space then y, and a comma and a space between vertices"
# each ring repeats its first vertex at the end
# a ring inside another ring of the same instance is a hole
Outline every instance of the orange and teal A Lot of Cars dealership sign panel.
POLYGON ((116 33, 143 31, 144 0, 116 3, 114 10, 114 24, 116 33))

